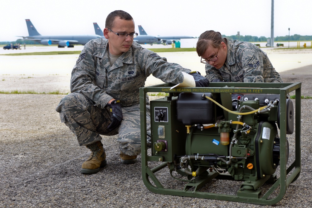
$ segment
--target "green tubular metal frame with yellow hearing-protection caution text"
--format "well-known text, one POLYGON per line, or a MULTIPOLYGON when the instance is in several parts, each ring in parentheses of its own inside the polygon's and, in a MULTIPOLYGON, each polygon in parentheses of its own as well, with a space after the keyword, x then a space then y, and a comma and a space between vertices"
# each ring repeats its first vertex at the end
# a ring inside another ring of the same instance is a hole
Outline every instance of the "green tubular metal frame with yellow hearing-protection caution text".
POLYGON ((145 186, 154 193, 174 196, 188 196, 205 199, 216 199, 224 201, 236 201, 260 205, 274 205, 278 203, 286 193, 287 187, 294 182, 301 171, 301 83, 210 83, 207 88, 174 88, 172 84, 154 85, 140 88, 140 117, 141 117, 141 141, 142 141, 142 178, 145 186), (295 161, 286 166, 286 96, 295 91, 295 161), (277 178, 271 188, 264 193, 261 198, 252 198, 237 195, 227 195, 219 193, 188 191, 180 189, 164 188, 155 176, 155 172, 167 167, 166 162, 162 162, 156 167, 150 168, 148 161, 161 161, 157 156, 148 156, 146 142, 146 93, 164 92, 202 92, 202 93, 250 93, 250 94, 280 94, 280 177, 277 178), (292 172, 291 172, 292 171, 292 172), (290 173, 291 172, 291 173, 290 173), (151 183, 153 181, 154 185, 151 183), (280 191, 274 198, 268 197, 280 187, 280 191))

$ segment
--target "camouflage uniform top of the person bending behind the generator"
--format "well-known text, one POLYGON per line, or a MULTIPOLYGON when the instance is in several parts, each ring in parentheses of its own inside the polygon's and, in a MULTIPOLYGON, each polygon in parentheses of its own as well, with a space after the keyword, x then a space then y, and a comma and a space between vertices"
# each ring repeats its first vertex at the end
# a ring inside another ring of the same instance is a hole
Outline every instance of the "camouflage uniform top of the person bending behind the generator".
POLYGON ((209 81, 283 82, 265 52, 249 42, 227 39, 227 60, 221 69, 206 64, 209 81))

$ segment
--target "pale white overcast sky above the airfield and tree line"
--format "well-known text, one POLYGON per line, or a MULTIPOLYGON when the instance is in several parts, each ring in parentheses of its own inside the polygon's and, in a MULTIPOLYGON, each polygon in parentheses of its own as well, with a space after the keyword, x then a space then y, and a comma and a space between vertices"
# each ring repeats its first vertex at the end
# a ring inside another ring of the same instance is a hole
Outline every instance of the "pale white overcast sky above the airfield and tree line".
MULTIPOLYGON (((41 35, 94 35, 93 22, 105 27, 114 10, 128 12, 135 30, 142 25, 154 36, 199 36, 206 30, 223 35, 271 36, 271 0, 5 0, 1 1, 0 41, 28 36, 25 19, 41 35)), ((312 1, 275 0, 274 36, 312 35, 312 1)))

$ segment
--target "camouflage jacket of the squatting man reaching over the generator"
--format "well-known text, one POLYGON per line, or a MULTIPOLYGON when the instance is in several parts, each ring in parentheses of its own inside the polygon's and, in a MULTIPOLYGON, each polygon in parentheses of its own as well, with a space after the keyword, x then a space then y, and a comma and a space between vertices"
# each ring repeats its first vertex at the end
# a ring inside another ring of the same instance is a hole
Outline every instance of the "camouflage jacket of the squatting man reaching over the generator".
POLYGON ((94 39, 85 45, 72 70, 71 92, 84 94, 100 108, 110 99, 120 99, 121 107, 127 107, 139 104, 139 88, 149 75, 178 84, 183 82, 182 71, 190 72, 136 42, 111 66, 108 40, 94 39))

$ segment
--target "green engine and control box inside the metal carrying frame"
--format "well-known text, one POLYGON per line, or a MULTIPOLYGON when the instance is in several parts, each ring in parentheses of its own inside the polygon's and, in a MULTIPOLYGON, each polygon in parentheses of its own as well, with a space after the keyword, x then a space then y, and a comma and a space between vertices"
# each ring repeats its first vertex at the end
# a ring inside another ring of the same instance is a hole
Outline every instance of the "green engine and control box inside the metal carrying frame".
MULTIPOLYGON (((151 101, 151 154, 167 162, 171 175, 177 172, 187 177, 184 191, 191 187, 197 191, 207 181, 226 174, 232 180, 245 181, 238 195, 258 197, 259 187, 276 179, 279 95, 232 96, 192 92, 151 101)), ((292 134, 291 99, 286 106, 287 134, 292 134)), ((286 147, 288 160, 287 140, 286 147)))

